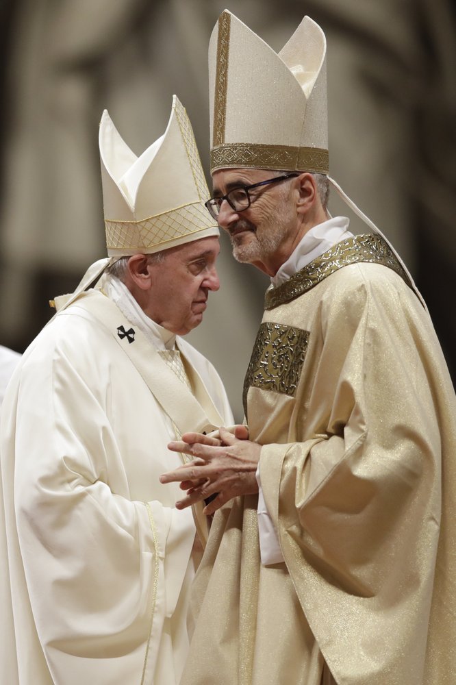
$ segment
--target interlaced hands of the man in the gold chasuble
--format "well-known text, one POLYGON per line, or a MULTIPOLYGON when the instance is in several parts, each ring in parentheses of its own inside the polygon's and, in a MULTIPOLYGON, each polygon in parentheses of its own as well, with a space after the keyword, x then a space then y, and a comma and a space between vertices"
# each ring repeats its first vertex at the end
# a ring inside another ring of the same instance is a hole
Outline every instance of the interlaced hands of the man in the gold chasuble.
POLYGON ((180 482, 181 489, 187 491, 176 502, 176 508, 184 509, 218 493, 204 509, 205 514, 213 514, 233 497, 257 493, 255 471, 261 445, 252 443, 248 437, 247 428, 238 425, 234 434, 220 428, 215 436, 185 433, 181 440, 169 443, 171 451, 193 458, 160 476, 161 483, 180 482))

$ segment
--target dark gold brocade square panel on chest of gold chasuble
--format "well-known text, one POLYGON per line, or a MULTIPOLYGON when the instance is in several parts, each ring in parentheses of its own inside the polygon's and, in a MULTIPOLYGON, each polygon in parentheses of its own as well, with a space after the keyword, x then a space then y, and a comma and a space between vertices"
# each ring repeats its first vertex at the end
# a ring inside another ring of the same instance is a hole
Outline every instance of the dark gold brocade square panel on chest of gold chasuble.
POLYGON ((267 321, 259 327, 242 395, 247 416, 251 386, 294 397, 304 363, 309 332, 267 321))

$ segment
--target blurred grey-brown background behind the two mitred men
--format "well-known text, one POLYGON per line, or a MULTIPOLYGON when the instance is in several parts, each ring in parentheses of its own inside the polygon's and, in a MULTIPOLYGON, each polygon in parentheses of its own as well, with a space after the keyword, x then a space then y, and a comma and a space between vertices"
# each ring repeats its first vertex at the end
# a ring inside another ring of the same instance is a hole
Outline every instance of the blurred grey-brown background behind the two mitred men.
MULTIPOLYGON (((176 93, 208 173, 207 45, 224 9, 219 0, 1 0, 1 344, 23 351, 49 319, 48 300, 105 256, 104 108, 140 154, 164 132, 176 93)), ((231 0, 228 9, 277 51, 305 14, 325 30, 331 175, 409 265, 454 378, 455 5, 231 0)), ((335 201, 331 211, 348 212, 335 201)), ((240 420, 268 281, 234 262, 225 238, 219 271, 220 292, 189 338, 218 368, 240 420)))

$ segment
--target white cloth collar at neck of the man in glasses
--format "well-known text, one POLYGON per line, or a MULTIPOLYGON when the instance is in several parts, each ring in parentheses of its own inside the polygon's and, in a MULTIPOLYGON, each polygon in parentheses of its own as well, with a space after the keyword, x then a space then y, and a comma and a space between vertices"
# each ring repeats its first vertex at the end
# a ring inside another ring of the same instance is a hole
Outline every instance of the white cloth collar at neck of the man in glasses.
POLYGON ((349 223, 346 216, 334 216, 333 219, 323 221, 323 223, 319 223, 307 231, 288 260, 270 279, 273 286, 277 287, 284 283, 290 276, 304 269, 307 264, 310 264, 312 260, 329 250, 337 242, 346 240, 346 238, 353 238, 353 234, 348 230, 349 223))

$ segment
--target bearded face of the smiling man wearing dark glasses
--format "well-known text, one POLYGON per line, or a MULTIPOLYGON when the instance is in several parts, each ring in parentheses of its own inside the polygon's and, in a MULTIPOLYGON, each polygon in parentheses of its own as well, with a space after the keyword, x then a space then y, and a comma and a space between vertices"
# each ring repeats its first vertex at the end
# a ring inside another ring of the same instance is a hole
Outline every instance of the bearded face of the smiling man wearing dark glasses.
MULTIPOLYGON (((212 175, 214 196, 232 188, 249 186, 273 177, 264 169, 221 169, 212 175)), ((231 238, 233 256, 238 262, 268 262, 279 246, 296 232, 296 211, 291 199, 292 181, 255 188, 251 206, 235 212, 223 202, 218 224, 231 238)))

